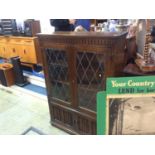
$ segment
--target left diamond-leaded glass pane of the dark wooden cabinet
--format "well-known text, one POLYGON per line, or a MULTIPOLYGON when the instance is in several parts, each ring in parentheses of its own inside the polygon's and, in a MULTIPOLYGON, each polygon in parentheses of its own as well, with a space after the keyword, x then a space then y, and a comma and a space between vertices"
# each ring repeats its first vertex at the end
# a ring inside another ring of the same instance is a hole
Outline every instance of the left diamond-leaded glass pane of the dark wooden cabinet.
POLYGON ((66 52, 48 48, 46 49, 46 58, 52 83, 52 97, 70 102, 71 92, 69 85, 68 57, 66 52))

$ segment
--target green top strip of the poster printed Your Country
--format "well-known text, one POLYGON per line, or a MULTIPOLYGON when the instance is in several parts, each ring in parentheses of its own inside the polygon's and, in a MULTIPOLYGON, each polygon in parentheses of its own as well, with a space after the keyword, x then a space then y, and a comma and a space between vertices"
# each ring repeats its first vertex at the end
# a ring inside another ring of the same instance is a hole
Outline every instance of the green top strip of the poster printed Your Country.
POLYGON ((135 77, 116 77, 107 78, 106 93, 109 95, 123 95, 123 94, 148 94, 155 93, 155 76, 135 76, 135 77), (119 84, 114 86, 112 83, 119 84), (148 92, 148 88, 153 92, 148 92), (128 89, 130 92, 121 92, 120 89, 128 89), (139 92, 138 90, 143 90, 139 92))

